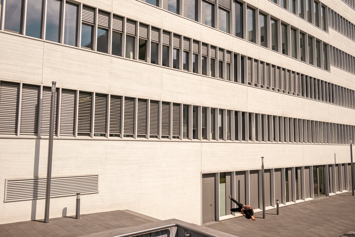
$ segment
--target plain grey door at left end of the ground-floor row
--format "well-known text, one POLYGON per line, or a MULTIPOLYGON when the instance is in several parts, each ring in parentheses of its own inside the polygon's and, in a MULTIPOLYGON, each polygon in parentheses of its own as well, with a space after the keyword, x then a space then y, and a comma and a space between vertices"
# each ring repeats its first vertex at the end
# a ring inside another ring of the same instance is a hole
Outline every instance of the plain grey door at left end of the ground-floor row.
POLYGON ((202 224, 215 220, 215 173, 202 175, 202 224))

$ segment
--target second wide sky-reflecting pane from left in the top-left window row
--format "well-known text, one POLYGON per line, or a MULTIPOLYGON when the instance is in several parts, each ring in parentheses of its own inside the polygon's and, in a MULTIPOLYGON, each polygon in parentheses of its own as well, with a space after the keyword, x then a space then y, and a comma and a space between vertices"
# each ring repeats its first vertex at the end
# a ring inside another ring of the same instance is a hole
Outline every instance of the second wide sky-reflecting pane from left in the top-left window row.
POLYGON ((26 35, 41 38, 42 12, 42 0, 27 0, 26 35))

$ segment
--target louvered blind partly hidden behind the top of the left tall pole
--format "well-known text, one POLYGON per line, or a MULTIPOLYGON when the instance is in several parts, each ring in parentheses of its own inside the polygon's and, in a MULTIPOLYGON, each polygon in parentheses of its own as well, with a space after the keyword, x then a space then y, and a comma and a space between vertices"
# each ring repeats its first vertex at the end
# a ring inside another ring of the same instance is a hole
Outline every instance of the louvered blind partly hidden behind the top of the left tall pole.
MULTIPOLYGON (((54 134, 57 134, 57 118, 58 118, 58 89, 55 93, 54 103, 54 134)), ((41 135, 49 135, 49 123, 50 123, 50 102, 52 96, 51 87, 43 87, 42 91, 42 103, 41 103, 41 135)))

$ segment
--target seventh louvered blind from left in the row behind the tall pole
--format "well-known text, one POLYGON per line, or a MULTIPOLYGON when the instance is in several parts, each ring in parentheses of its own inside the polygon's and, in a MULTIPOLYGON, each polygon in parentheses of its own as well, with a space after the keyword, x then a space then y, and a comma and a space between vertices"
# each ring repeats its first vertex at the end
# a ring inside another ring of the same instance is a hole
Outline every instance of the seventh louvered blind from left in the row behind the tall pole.
POLYGON ((121 97, 110 97, 110 136, 119 137, 121 134, 121 97))

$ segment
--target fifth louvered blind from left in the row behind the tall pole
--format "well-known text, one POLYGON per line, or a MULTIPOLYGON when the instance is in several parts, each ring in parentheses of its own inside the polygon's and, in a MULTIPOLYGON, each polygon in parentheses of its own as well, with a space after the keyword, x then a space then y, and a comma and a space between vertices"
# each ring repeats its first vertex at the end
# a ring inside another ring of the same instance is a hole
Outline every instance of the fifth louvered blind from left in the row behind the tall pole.
POLYGON ((91 133, 92 93, 79 92, 78 135, 91 133))

